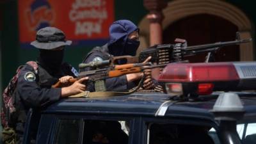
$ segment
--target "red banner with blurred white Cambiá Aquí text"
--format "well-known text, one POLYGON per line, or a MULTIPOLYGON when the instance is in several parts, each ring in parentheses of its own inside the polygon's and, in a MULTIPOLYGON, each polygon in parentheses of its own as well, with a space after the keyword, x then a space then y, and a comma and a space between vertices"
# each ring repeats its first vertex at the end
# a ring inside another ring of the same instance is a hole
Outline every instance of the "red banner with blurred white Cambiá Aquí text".
POLYGON ((97 45, 108 40, 114 20, 114 0, 19 0, 19 40, 28 47, 36 31, 54 26, 73 45, 97 45))

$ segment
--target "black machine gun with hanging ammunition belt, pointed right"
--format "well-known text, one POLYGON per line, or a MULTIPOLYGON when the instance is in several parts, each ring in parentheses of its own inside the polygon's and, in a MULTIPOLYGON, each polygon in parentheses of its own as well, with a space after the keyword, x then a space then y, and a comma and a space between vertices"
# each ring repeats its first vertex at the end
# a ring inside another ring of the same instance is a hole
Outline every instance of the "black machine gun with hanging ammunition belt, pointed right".
POLYGON ((216 42, 214 44, 204 44, 204 45, 193 45, 187 46, 186 40, 177 38, 175 41, 179 41, 177 44, 161 44, 154 45, 140 52, 139 56, 115 56, 110 58, 110 65, 113 65, 117 60, 126 60, 127 63, 138 63, 145 61, 148 56, 151 56, 150 62, 157 63, 161 65, 163 63, 173 63, 183 61, 186 56, 193 56, 202 52, 208 52, 206 57, 206 62, 212 57, 212 52, 217 51, 221 47, 228 45, 239 45, 243 43, 248 43, 252 41, 250 39, 228 41, 228 42, 216 42))

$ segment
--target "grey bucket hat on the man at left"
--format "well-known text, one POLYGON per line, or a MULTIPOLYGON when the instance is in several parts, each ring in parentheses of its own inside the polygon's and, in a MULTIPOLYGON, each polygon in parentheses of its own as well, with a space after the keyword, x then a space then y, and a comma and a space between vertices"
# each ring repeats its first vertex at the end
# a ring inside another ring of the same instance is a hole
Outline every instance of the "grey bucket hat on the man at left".
POLYGON ((31 45, 38 49, 55 49, 60 46, 70 45, 72 41, 65 40, 66 36, 63 31, 54 27, 39 29, 36 33, 36 40, 31 45))

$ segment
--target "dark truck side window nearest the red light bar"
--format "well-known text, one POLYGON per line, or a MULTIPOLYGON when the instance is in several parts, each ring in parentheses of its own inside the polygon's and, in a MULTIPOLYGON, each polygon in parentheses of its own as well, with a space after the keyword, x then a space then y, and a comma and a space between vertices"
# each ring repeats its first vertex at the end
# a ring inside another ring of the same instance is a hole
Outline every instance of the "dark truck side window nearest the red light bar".
POLYGON ((214 144, 208 131, 211 127, 198 125, 149 124, 148 144, 214 144))

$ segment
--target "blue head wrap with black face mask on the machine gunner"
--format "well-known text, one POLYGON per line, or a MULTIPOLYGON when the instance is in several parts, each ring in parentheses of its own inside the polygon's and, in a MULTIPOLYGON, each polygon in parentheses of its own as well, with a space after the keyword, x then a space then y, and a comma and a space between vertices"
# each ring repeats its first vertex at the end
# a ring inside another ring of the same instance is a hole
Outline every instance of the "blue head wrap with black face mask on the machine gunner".
POLYGON ((113 56, 136 54, 140 42, 137 40, 129 40, 128 36, 137 31, 138 27, 130 20, 117 20, 109 28, 109 53, 113 56))

